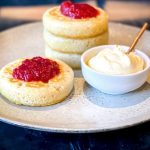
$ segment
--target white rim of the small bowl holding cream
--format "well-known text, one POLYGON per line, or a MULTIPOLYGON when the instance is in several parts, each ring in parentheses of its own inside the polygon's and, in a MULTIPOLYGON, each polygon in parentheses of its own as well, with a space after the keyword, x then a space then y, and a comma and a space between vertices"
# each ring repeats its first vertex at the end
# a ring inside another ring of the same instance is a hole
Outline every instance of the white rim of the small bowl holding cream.
POLYGON ((103 75, 103 76, 107 76, 107 77, 131 77, 131 76, 136 76, 136 75, 139 75, 139 74, 142 74, 143 72, 146 72, 147 70, 150 69, 150 58, 147 54, 145 54, 144 52, 142 52, 141 50, 139 49, 135 49, 135 52, 137 54, 139 54, 142 59, 145 61, 146 63, 146 67, 141 70, 141 71, 138 71, 138 72, 135 72, 135 73, 131 73, 131 74, 125 74, 125 75, 115 75, 115 74, 105 74, 105 73, 102 73, 102 72, 98 72, 92 68, 90 68, 84 61, 85 59, 85 56, 88 54, 88 53, 91 53, 92 51, 97 51, 98 48, 110 48, 110 47, 116 47, 116 46, 120 46, 120 47, 124 47, 124 48, 129 48, 129 46, 126 46, 126 45, 119 45, 119 44, 114 44, 114 45, 100 45, 100 46, 96 46, 96 47, 92 47, 88 50, 86 50, 82 55, 81 55, 81 68, 85 67, 86 69, 88 69, 88 71, 91 71, 91 72, 94 72, 96 74, 99 74, 99 75, 103 75))

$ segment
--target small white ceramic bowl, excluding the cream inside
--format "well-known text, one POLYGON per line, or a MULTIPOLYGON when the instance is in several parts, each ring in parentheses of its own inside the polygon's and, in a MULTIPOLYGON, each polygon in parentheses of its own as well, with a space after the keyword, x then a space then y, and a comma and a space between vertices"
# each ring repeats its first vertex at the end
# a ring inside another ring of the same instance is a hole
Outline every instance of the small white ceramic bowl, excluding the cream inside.
MULTIPOLYGON (((81 57, 82 74, 84 79, 91 86, 104 93, 124 94, 139 88, 146 82, 150 68, 150 59, 145 53, 135 50, 136 54, 142 57, 145 61, 145 68, 142 71, 128 75, 106 75, 95 71, 87 65, 89 59, 95 56, 99 51, 105 48, 111 49, 114 47, 116 47, 116 45, 103 45, 91 48, 84 52, 81 57)), ((119 47, 125 51, 129 48, 123 45, 119 45, 119 47)))

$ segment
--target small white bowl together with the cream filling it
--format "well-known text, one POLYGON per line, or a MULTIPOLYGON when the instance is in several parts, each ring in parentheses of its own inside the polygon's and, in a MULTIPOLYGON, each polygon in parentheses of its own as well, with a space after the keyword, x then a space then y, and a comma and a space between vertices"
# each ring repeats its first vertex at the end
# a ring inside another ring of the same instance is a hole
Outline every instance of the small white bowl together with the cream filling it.
POLYGON ((123 94, 142 86, 148 75, 150 60, 142 51, 122 45, 104 45, 87 50, 81 57, 85 80, 108 94, 123 94))

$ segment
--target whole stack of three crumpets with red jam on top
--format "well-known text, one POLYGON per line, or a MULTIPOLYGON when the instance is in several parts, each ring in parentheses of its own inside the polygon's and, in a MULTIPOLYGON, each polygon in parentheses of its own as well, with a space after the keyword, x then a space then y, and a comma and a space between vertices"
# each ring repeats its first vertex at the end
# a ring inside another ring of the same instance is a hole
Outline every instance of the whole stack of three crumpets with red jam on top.
POLYGON ((108 43, 108 16, 83 3, 63 2, 43 15, 45 54, 80 68, 81 54, 108 43))

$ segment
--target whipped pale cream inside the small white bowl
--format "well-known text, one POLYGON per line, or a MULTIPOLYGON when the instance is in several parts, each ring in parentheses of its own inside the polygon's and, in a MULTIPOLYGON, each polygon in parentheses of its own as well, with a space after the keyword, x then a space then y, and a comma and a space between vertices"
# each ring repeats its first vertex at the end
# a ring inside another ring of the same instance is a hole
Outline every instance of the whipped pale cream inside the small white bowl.
POLYGON ((143 70, 144 60, 134 52, 126 54, 116 46, 101 50, 88 61, 88 66, 108 75, 125 75, 143 70))

